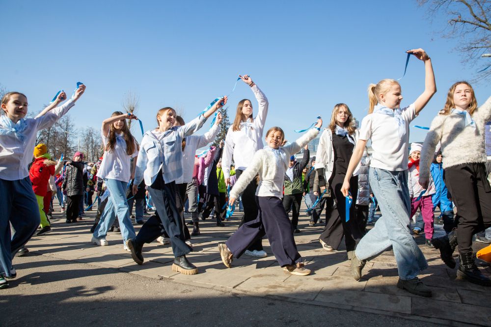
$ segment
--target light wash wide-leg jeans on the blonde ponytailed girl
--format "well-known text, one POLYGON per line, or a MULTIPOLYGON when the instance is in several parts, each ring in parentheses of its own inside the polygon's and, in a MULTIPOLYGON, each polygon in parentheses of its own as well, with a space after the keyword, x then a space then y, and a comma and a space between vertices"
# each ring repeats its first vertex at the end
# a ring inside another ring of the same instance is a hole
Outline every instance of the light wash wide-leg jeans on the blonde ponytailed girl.
POLYGON ((392 247, 399 278, 412 279, 428 268, 428 263, 409 232, 408 171, 370 167, 369 178, 382 216, 356 246, 355 254, 370 260, 392 247))

